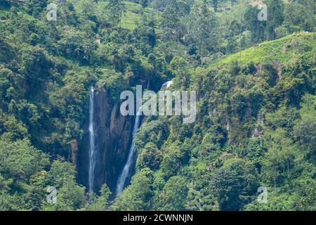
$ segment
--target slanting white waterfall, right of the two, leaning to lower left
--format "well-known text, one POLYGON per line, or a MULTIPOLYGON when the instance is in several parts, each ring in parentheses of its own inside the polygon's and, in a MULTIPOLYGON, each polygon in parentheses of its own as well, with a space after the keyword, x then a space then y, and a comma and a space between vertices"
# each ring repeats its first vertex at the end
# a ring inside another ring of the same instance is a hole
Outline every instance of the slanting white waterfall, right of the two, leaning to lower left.
POLYGON ((124 165, 124 169, 121 172, 119 179, 117 180, 117 190, 116 190, 117 194, 119 194, 123 191, 124 184, 126 182, 127 177, 129 176, 129 171, 131 169, 131 166, 133 165, 134 150, 135 150, 135 136, 136 136, 136 132, 138 131, 138 127, 140 125, 141 110, 142 110, 142 108, 140 107, 138 109, 138 112, 136 113, 136 119, 135 119, 135 124, 134 124, 134 128, 133 128, 133 140, 131 143, 131 148, 129 149, 129 156, 127 158, 127 162, 124 165))

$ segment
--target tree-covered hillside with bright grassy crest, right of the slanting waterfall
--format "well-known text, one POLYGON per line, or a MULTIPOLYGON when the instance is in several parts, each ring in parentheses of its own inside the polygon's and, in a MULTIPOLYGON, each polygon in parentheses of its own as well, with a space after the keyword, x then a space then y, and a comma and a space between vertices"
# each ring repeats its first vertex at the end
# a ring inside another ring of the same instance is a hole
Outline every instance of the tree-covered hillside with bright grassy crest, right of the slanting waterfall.
MULTIPOLYGON (((255 52, 242 51, 249 58, 241 64, 236 53, 192 71, 197 120, 145 120, 136 138, 136 175, 114 209, 315 209, 314 37, 301 33, 265 41, 255 52), (282 46, 289 50, 277 54, 282 46), (268 190, 265 204, 257 201, 258 186, 268 190), (144 198, 144 189, 154 196, 144 198)), ((190 65, 180 60, 171 62, 181 65, 174 68, 173 90, 188 84, 183 76, 190 65)))

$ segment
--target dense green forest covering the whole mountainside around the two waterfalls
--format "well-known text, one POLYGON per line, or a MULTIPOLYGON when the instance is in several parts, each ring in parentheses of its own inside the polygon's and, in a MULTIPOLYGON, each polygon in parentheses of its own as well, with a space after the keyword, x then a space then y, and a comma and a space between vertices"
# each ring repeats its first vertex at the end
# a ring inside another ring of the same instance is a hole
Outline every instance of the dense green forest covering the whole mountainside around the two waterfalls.
POLYGON ((315 211, 315 91, 315 0, 1 0, 0 211, 315 211), (195 122, 132 136, 121 92, 168 81, 197 92, 195 122), (91 86, 110 109, 95 97, 93 191, 91 86))

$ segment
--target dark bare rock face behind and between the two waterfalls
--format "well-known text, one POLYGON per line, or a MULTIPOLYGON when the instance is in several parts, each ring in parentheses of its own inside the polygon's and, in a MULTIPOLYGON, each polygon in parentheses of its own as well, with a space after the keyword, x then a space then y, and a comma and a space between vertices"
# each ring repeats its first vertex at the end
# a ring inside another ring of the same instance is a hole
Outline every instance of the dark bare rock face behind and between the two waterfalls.
MULTIPOLYGON (((94 192, 98 193, 104 183, 114 192, 117 177, 124 167, 132 139, 133 117, 122 116, 121 103, 110 103, 110 96, 103 88, 96 89, 94 122, 96 127, 96 148, 98 151, 95 169, 94 192)), ((88 117, 88 113, 87 113, 88 117)), ((84 126, 84 138, 79 145, 78 180, 88 186, 88 120, 84 126)))

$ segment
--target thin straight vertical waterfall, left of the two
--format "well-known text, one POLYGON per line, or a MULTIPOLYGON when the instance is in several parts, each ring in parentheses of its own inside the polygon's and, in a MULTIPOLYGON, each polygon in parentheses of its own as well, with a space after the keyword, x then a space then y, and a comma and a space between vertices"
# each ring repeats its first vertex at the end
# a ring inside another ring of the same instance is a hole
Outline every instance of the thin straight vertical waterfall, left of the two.
POLYGON ((94 128, 94 87, 91 87, 90 106, 89 106, 89 187, 88 191, 93 192, 94 184, 94 169, 96 167, 96 134, 94 128))

